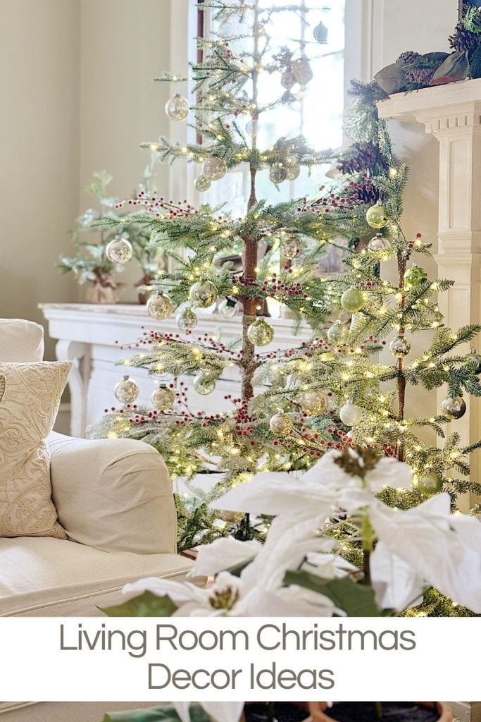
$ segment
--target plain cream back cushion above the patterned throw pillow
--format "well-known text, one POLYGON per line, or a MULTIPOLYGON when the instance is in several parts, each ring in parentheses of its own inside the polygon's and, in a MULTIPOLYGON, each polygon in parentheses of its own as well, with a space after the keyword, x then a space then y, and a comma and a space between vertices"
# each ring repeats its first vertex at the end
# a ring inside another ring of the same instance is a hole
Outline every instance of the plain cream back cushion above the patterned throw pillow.
POLYGON ((22 318, 0 318, 0 361, 42 359, 42 326, 22 318))

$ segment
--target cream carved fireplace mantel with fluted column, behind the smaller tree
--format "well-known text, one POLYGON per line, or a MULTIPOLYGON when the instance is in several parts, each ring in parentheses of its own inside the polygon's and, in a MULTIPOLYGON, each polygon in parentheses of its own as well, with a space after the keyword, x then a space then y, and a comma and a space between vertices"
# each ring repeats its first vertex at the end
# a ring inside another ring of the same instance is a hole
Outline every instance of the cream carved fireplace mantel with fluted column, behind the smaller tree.
MULTIPOLYGON (((438 263, 440 278, 455 282, 440 294, 446 326, 481 321, 481 79, 392 95, 379 103, 381 118, 422 123, 439 141, 438 263)), ((481 352, 480 340, 477 350, 481 352)), ((469 352, 469 348, 466 349, 469 352)), ((438 392, 438 401, 446 389, 438 392)), ((462 443, 481 438, 481 404, 466 399, 467 413, 455 422, 462 443)), ((474 480, 481 479, 481 453, 471 458, 474 480)), ((479 498, 466 499, 467 510, 479 498)))

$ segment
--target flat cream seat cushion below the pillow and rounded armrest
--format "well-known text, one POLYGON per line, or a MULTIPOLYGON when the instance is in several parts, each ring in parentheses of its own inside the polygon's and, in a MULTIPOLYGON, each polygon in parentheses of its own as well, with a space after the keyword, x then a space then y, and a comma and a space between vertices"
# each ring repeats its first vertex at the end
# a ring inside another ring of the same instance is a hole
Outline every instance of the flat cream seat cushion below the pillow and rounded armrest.
POLYGON ((142 577, 184 578, 192 562, 177 554, 102 552, 75 541, 0 539, 0 616, 97 616, 142 577))

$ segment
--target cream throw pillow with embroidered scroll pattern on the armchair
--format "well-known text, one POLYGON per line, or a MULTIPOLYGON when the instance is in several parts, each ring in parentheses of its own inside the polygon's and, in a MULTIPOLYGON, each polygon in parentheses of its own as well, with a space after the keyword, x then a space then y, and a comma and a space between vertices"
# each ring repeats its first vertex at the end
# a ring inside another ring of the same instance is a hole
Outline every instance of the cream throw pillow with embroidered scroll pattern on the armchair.
POLYGON ((70 368, 63 361, 0 362, 0 536, 66 538, 51 497, 45 438, 70 368))

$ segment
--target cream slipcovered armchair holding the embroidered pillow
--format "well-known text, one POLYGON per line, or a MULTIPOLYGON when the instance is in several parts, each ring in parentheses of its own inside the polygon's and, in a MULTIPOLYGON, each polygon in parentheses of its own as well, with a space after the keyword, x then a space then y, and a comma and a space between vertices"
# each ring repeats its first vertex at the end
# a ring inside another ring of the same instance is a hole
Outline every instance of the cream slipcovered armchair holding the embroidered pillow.
MULTIPOLYGON (((41 326, 0 319, 2 362, 42 357, 41 326)), ((154 448, 56 433, 48 445, 53 502, 69 538, 0 539, 1 616, 93 616, 129 581, 185 576, 191 563, 177 554, 172 487, 154 448)))

